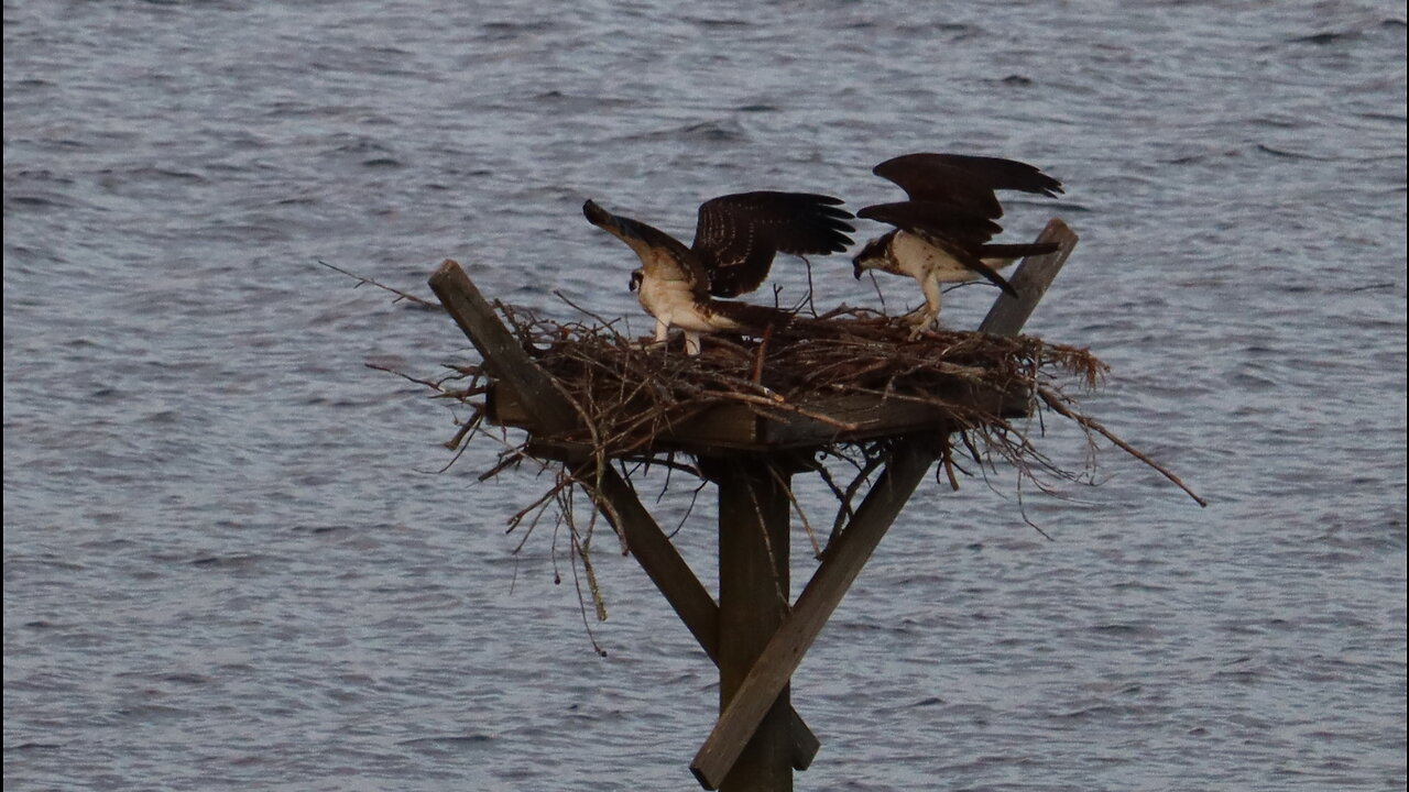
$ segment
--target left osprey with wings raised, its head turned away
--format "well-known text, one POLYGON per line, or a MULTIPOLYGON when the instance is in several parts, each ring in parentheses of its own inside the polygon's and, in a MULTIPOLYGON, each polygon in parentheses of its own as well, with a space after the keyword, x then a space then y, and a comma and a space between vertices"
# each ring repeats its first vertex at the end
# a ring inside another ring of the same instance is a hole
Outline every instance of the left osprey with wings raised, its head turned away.
POLYGON ((671 327, 685 330, 685 351, 697 355, 700 333, 758 331, 785 323, 792 314, 713 297, 752 292, 768 278, 779 252, 834 254, 851 244, 854 216, 838 209, 841 199, 810 193, 754 192, 712 199, 700 204, 695 242, 685 247, 669 234, 593 202, 582 213, 593 225, 626 242, 641 258, 631 273, 631 290, 655 317, 655 340, 671 327))

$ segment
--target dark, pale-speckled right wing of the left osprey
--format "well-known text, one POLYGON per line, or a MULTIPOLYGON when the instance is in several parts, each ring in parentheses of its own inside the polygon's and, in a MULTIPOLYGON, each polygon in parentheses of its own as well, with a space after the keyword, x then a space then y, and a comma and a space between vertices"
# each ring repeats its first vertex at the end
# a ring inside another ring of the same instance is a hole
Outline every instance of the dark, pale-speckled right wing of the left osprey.
POLYGON ((810 193, 755 192, 700 204, 690 249, 720 297, 752 292, 779 252, 836 254, 851 245, 852 214, 841 199, 810 193))

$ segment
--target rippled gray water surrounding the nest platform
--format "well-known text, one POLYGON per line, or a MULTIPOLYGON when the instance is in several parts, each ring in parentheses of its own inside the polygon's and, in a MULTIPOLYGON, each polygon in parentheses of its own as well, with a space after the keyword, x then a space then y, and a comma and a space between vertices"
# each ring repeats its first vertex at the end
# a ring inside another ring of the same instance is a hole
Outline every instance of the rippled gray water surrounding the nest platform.
POLYGON ((1405 86, 1403 6, 1348 0, 7 1, 6 788, 695 788, 704 655, 610 551, 589 638, 562 537, 504 534, 545 479, 437 472, 452 414, 364 366, 465 340, 317 261, 644 333, 585 199, 689 238, 967 151, 1067 183, 1006 220, 1082 237, 1027 330, 1210 506, 1110 448, 923 486, 793 681, 797 788, 1403 789, 1405 86))

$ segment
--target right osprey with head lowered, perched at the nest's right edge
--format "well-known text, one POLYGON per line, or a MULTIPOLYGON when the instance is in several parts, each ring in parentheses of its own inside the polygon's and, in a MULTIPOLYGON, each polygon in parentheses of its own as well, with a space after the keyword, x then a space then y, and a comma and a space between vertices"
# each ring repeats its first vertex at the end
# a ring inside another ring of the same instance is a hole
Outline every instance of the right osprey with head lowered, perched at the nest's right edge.
POLYGON ((1013 285, 996 272, 1026 255, 1057 249, 1055 244, 992 245, 1003 228, 995 190, 1023 190, 1057 197, 1061 182, 1012 159, 962 154, 906 154, 872 171, 899 185, 910 200, 868 206, 858 217, 895 225, 871 240, 851 259, 857 279, 867 269, 909 275, 924 292, 924 307, 907 321, 919 337, 940 314, 940 283, 986 278, 1016 297, 1013 285))

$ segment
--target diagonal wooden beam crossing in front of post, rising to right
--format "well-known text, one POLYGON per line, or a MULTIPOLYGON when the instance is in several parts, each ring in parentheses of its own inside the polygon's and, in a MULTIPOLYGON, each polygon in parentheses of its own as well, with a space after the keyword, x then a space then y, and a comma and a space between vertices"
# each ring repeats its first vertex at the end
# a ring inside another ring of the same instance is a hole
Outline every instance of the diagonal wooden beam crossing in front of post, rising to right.
MULTIPOLYGON (((1047 286, 1076 247, 1076 234, 1061 220, 1053 218, 1037 241, 1057 242, 1060 248, 1023 261, 1012 279, 1019 297, 1000 296, 979 330, 998 335, 1019 334, 1047 292, 1047 286)), ((907 437, 898 444, 885 472, 867 493, 833 547, 827 548, 826 558, 799 595, 792 613, 783 619, 768 645, 759 652, 748 676, 720 713, 713 731, 690 762, 690 771, 702 786, 717 789, 728 775, 827 619, 871 558, 871 552, 899 516, 930 465, 938 458, 937 440, 933 434, 923 434, 907 437)))

